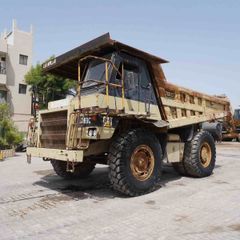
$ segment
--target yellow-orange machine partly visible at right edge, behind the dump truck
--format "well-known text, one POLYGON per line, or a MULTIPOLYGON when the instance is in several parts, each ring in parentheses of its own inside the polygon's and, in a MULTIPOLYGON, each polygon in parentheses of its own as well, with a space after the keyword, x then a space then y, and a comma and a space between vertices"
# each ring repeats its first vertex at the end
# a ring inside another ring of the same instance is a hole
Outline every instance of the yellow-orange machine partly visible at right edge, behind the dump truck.
POLYGON ((229 115, 223 121, 222 140, 240 142, 240 109, 235 109, 234 114, 229 115))

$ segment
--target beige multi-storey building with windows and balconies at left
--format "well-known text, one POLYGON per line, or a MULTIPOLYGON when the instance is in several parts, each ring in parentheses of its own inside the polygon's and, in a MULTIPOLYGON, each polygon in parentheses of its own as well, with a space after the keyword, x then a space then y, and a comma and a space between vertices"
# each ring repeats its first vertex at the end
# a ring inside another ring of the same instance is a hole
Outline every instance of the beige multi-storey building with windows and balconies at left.
POLYGON ((21 132, 27 131, 31 115, 31 94, 24 75, 32 66, 33 31, 18 29, 13 20, 12 30, 0 37, 0 102, 11 107, 12 118, 21 132))

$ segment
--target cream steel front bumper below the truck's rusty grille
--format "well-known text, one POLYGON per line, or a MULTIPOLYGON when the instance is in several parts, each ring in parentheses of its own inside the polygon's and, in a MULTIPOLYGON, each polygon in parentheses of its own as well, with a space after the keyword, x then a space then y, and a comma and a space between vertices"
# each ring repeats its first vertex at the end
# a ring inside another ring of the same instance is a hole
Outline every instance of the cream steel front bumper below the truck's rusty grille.
POLYGON ((28 159, 31 157, 41 157, 41 158, 56 159, 61 161, 82 162, 83 151, 28 147, 27 157, 28 159))

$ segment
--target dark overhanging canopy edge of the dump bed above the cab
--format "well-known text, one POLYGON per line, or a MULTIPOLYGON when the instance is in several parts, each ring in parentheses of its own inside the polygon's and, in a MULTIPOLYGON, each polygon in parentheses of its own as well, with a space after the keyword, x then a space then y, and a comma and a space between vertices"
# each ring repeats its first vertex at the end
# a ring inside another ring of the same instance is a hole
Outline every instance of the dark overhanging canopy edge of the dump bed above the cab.
MULTIPOLYGON (((76 65, 77 61, 89 54, 95 54, 99 52, 109 51, 109 50, 120 50, 127 52, 133 56, 137 56, 149 62, 155 62, 158 64, 167 63, 168 61, 139 50, 137 48, 128 46, 124 43, 118 42, 110 38, 110 34, 106 33, 100 37, 97 37, 89 42, 80 45, 62 55, 57 56, 54 59, 48 60, 43 63, 43 71, 49 73, 55 73, 58 75, 64 75, 67 73, 67 69, 71 68, 72 65, 76 65), (65 72, 66 71, 66 72, 65 72)), ((69 73, 69 72, 68 72, 69 73)))

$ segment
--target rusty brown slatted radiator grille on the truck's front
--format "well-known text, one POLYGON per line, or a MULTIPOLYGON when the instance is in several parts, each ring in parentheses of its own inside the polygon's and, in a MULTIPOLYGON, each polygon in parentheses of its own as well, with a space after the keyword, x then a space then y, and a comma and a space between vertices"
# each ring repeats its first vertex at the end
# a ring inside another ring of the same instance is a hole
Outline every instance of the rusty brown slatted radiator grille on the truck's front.
POLYGON ((41 114, 41 147, 65 149, 67 132, 67 111, 41 114))

